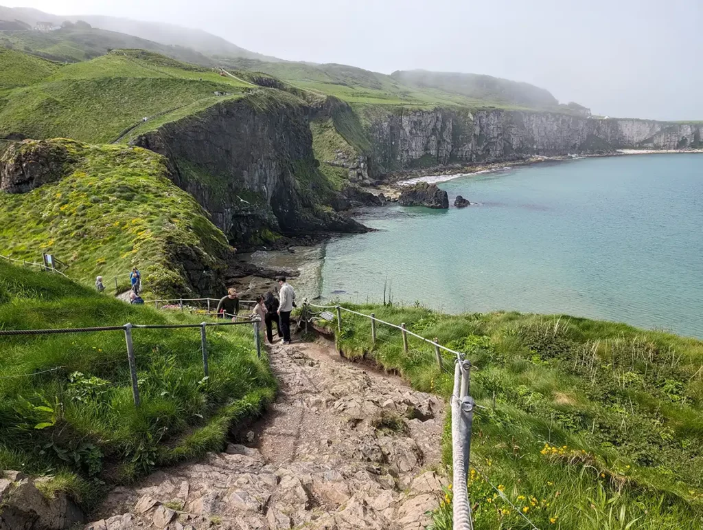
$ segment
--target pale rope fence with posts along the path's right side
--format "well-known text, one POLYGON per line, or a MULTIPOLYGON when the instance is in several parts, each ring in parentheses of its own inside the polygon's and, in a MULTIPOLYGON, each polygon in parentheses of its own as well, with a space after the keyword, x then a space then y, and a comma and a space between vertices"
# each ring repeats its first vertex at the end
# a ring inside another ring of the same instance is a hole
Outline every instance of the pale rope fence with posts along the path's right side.
MULTIPOLYGON (((371 343, 377 342, 387 343, 389 346, 403 348, 406 355, 419 353, 420 355, 431 355, 429 352, 418 351, 415 348, 410 348, 408 344, 408 336, 420 339, 423 343, 430 344, 434 348, 434 358, 437 360, 437 365, 440 372, 449 372, 448 367, 444 366, 444 357, 442 352, 449 353, 454 361, 454 388, 451 395, 451 446, 452 446, 452 462, 453 462, 453 529, 454 530, 473 530, 473 519, 471 515, 471 504, 468 494, 468 472, 471 453, 471 427, 473 423, 474 410, 477 405, 474 399, 470 396, 470 376, 471 362, 465 359, 465 355, 458 351, 442 346, 437 339, 427 339, 417 333, 407 329, 405 323, 393 324, 377 318, 374 313, 366 315, 342 307, 342 305, 316 305, 304 300, 303 302, 303 318, 307 329, 308 322, 311 322, 310 308, 319 310, 335 310, 337 313, 337 333, 342 332, 342 312, 349 313, 366 318, 371 322, 371 343), (396 345, 385 339, 380 339, 377 334, 377 326, 385 326, 391 329, 397 329, 401 332, 402 346, 396 345), (459 485, 462 485, 459 487, 459 485)), ((331 320, 333 315, 328 315, 328 320, 331 320)), ((451 372, 449 372, 451 373, 451 372)))

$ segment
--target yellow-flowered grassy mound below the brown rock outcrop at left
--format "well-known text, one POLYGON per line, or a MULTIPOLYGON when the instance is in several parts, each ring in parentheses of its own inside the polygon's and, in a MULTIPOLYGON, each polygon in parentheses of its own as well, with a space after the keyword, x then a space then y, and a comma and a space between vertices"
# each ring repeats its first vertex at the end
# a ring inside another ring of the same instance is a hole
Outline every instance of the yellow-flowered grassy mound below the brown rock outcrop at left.
MULTIPOLYGON (((70 140, 51 145, 75 162, 58 182, 25 194, 0 194, 0 253, 36 261, 41 252, 51 252, 70 265, 68 275, 88 283, 98 274, 107 280, 138 265, 145 289, 159 294, 186 291, 179 264, 171 259, 176 245, 200 248, 205 263, 223 265, 224 234, 166 177, 165 158, 127 146, 70 140)), ((110 282, 105 286, 114 288, 110 282)))

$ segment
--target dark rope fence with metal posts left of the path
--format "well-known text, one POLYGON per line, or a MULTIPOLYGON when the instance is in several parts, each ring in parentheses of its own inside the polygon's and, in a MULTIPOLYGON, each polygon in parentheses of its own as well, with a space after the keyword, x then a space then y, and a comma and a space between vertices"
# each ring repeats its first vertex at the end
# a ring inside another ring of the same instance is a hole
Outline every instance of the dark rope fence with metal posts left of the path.
MULTIPOLYGON (((235 322, 201 322, 200 324, 131 324, 127 323, 122 326, 102 326, 102 327, 75 327, 63 329, 0 329, 0 336, 20 336, 20 335, 53 335, 67 333, 96 333, 96 332, 116 332, 124 333, 124 341, 127 346, 127 361, 129 362, 129 372, 131 374, 132 393, 134 395, 134 406, 141 405, 139 396, 139 384, 136 372, 136 358, 134 357, 134 343, 132 340, 132 329, 192 329, 200 328, 200 349, 202 351, 202 368, 205 372, 205 377, 209 377, 208 353, 207 353, 207 327, 213 326, 238 326, 243 324, 252 324, 254 329, 254 345, 257 348, 257 357, 261 358, 261 340, 259 338, 259 317, 252 317, 249 320, 238 320, 235 322)), ((48 372, 56 372, 63 367, 54 367, 49 370, 41 370, 32 374, 16 374, 3 376, 0 379, 13 379, 15 377, 32 377, 34 375, 45 374, 48 372)))

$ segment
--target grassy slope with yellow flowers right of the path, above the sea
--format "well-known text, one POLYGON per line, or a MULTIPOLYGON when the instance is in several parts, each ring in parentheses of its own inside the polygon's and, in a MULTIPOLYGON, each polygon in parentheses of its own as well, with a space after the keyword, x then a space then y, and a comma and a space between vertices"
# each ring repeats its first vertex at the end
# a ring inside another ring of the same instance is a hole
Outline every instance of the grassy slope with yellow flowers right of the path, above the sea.
MULTIPOLYGON (((486 407, 475 417, 473 467, 539 528, 703 524, 703 342, 573 317, 356 309, 467 353, 472 396, 486 407)), ((367 352, 418 389, 451 393, 427 346, 411 338, 405 355, 399 332, 380 326, 372 348, 368 320, 345 313, 343 322, 347 355, 367 352)), ((470 496, 477 530, 529 527, 478 474, 470 496)), ((438 529, 451 528, 449 513, 445 505, 438 529)))

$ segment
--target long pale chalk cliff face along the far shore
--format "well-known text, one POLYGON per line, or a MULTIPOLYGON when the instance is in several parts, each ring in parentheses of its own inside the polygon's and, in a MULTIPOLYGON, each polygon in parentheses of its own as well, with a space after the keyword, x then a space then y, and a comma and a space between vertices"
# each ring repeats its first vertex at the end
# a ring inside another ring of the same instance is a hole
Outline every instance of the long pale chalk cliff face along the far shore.
POLYGON ((700 124, 529 111, 402 109, 367 120, 380 172, 616 149, 703 147, 700 124))

